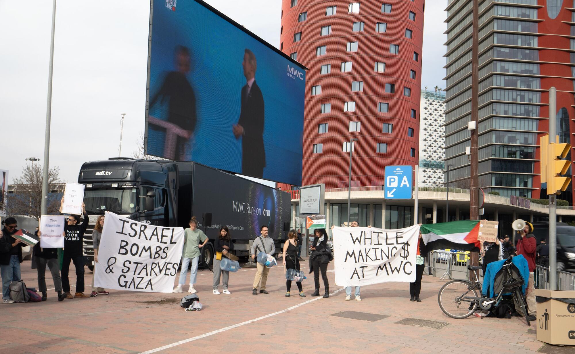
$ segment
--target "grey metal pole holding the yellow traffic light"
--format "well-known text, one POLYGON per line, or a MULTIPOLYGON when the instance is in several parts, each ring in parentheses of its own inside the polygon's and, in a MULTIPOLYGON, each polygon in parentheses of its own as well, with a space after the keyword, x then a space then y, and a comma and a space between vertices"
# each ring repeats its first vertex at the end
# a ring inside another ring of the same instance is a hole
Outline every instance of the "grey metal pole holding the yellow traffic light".
MULTIPOLYGON (((558 143, 557 134, 557 118, 555 114, 557 113, 557 89, 555 87, 549 88, 549 143, 558 143)), ((553 145, 549 145, 552 147, 553 145)), ((547 149, 548 156, 542 156, 541 158, 547 159, 547 164, 553 164, 555 156, 553 155, 553 149, 547 149)), ((549 171, 549 170, 547 170, 549 171)), ((547 173, 547 194, 553 193, 554 190, 551 184, 553 175, 547 173)), ((551 290, 557 289, 557 196, 555 194, 549 194, 549 285, 551 290)))

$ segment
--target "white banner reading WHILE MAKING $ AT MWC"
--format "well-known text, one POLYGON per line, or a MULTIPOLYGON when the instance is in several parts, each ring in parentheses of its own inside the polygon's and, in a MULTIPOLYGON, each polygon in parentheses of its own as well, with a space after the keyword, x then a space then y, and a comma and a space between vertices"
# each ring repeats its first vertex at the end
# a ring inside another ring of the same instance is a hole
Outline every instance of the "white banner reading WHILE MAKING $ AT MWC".
POLYGON ((333 228, 335 284, 415 282, 419 225, 405 229, 333 228))

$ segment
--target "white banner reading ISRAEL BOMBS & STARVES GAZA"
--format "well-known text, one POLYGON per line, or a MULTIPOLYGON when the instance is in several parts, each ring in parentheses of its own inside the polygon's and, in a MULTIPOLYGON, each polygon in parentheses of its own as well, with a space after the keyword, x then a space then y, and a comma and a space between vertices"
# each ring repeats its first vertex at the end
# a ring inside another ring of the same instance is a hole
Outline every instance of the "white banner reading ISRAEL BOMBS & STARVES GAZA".
POLYGON ((183 241, 182 228, 143 224, 106 211, 94 286, 171 293, 183 241))

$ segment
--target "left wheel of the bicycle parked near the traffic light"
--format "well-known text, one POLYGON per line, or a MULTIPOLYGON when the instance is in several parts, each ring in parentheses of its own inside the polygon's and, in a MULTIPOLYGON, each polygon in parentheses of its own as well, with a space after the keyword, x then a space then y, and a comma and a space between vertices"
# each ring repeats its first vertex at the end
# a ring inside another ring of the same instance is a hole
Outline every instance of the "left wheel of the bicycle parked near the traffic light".
POLYGON ((477 302, 464 297, 477 297, 476 287, 467 280, 451 280, 439 289, 439 307, 451 318, 469 317, 477 309, 477 302))

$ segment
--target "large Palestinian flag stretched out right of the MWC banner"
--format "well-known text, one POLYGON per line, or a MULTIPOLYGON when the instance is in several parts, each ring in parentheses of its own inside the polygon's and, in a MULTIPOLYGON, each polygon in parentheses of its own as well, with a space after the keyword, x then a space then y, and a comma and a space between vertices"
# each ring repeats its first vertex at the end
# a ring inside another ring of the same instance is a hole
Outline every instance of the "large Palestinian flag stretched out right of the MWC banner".
POLYGON ((428 251, 434 249, 457 249, 478 251, 481 241, 477 240, 480 222, 461 220, 421 225, 421 238, 428 251))

